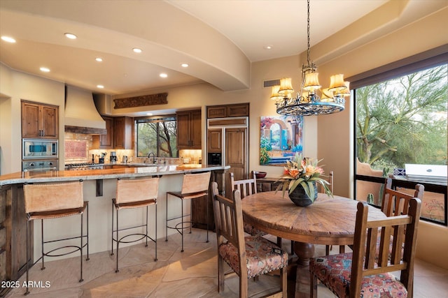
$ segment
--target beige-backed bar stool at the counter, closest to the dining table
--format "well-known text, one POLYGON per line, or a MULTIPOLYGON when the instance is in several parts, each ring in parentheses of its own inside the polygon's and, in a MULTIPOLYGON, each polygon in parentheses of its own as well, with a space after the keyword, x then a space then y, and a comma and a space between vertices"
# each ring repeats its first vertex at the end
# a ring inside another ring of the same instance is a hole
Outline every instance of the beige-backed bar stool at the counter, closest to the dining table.
POLYGON ((182 182, 182 190, 181 191, 168 191, 167 192, 167 223, 165 228, 165 241, 168 241, 168 229, 175 229, 182 236, 182 250, 183 253, 183 230, 190 228, 193 225, 193 221, 191 220, 191 206, 193 199, 197 198, 206 198, 207 204, 207 243, 209 242, 209 184, 210 184, 210 172, 204 172, 201 174, 184 174, 183 182, 182 182), (172 195, 176 198, 181 199, 182 207, 181 207, 181 216, 176 216, 173 218, 168 218, 168 195, 172 195), (190 200, 190 214, 183 214, 183 201, 190 200), (183 221, 183 218, 186 216, 190 216, 190 221, 183 221), (181 222, 177 223, 174 226, 169 226, 169 221, 174 221, 175 219, 181 218, 181 222), (188 226, 184 226, 184 223, 188 223, 188 226), (181 225, 181 228, 179 228, 181 225))

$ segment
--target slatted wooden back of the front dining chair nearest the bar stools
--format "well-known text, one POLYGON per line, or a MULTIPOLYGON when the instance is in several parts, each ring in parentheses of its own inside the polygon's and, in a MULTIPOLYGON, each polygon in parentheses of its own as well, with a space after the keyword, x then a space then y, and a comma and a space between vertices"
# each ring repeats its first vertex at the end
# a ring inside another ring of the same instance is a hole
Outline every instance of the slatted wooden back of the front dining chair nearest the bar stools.
POLYGON ((211 188, 213 191, 213 207, 218 247, 225 242, 230 242, 238 249, 240 270, 237 274, 241 280, 247 280, 241 195, 239 190, 233 191, 232 198, 230 199, 219 195, 218 184, 216 182, 212 182, 211 188))

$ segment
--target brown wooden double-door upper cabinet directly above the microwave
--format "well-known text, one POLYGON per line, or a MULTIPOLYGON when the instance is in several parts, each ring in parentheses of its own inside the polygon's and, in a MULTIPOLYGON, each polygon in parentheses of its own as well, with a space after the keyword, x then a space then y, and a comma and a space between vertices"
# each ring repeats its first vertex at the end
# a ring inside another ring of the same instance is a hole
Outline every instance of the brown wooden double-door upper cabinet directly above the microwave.
POLYGON ((59 107, 22 100, 22 137, 57 139, 59 107))

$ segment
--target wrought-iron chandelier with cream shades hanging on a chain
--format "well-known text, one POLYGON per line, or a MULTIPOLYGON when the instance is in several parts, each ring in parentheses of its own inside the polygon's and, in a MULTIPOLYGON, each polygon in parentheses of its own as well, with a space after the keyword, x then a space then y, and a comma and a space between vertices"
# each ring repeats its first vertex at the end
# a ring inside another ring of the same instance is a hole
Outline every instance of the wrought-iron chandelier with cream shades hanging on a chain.
POLYGON ((307 18, 307 65, 302 64, 302 85, 300 93, 291 97, 294 89, 290 77, 280 80, 280 85, 272 87, 272 100, 276 100, 278 114, 287 116, 312 116, 331 114, 344 110, 345 98, 350 96, 349 82, 344 82, 344 75, 332 75, 330 87, 321 90, 321 97, 316 94, 321 88, 318 82, 317 67, 309 59, 309 0, 307 18))

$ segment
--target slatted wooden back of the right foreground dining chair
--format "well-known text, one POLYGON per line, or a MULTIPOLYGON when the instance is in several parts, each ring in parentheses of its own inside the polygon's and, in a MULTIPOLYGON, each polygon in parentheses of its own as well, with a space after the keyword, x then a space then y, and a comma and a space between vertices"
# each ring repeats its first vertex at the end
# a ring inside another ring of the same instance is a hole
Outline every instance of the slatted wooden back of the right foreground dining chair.
POLYGON ((407 296, 412 297, 421 200, 411 198, 406 215, 389 216, 381 220, 369 221, 368 208, 366 202, 358 202, 349 297, 360 297, 361 281, 364 276, 391 271, 401 271, 400 282, 405 285, 407 296), (401 235, 404 231, 403 239, 401 235), (381 240, 376 260, 378 233, 381 240), (392 251, 389 251, 390 244, 393 246, 392 251))

